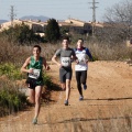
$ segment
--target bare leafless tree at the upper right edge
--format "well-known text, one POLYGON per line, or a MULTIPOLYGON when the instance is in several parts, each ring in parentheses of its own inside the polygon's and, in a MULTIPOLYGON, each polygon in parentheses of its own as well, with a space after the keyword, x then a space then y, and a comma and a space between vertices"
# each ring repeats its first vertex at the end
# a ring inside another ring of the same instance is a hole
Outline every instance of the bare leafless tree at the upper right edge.
POLYGON ((110 36, 122 40, 130 37, 132 35, 132 1, 125 0, 107 9, 105 20, 113 29, 110 36))

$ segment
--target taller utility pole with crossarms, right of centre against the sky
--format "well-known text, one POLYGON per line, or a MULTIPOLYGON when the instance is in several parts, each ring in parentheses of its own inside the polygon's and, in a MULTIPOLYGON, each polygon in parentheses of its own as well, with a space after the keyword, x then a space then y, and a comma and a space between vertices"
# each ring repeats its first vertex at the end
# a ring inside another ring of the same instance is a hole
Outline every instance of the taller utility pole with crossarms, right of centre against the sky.
POLYGON ((96 2, 96 0, 92 0, 92 2, 89 2, 89 3, 92 3, 92 7, 90 7, 92 9, 92 36, 95 34, 95 24, 96 24, 96 4, 99 3, 99 2, 96 2))

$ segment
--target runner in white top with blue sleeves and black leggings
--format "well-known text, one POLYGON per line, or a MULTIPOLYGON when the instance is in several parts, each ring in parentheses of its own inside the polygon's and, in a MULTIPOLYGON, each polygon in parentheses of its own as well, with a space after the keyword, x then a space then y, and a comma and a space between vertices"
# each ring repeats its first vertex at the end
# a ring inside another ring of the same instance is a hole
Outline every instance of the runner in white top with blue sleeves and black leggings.
POLYGON ((82 88, 84 90, 87 89, 86 79, 87 79, 87 70, 88 70, 88 58, 87 56, 92 61, 92 56, 87 47, 84 47, 84 40, 79 38, 77 42, 77 48, 75 48, 76 57, 78 58, 76 61, 75 65, 75 72, 76 72, 76 81, 77 81, 77 88, 79 91, 79 100, 84 99, 82 95, 82 88))

